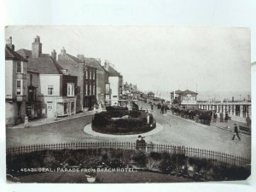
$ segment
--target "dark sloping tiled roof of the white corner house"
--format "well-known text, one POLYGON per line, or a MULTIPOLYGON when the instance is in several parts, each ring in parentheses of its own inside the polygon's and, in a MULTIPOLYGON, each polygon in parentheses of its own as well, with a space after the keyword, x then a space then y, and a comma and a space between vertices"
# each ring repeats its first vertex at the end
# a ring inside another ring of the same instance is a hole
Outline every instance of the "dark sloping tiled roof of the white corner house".
POLYGON ((49 54, 42 54, 38 58, 28 58, 27 70, 38 71, 40 74, 62 74, 62 69, 49 54))

